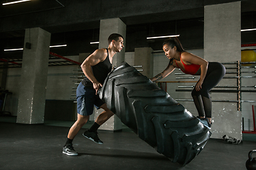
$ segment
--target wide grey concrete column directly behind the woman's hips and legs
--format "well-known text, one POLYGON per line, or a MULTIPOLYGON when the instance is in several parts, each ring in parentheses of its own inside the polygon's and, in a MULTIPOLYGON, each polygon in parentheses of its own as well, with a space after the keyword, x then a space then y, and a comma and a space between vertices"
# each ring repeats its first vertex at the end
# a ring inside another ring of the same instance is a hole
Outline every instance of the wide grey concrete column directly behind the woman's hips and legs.
MULTIPOLYGON (((208 62, 240 60, 241 2, 210 5, 205 6, 204 9, 204 59, 208 62)), ((228 74, 228 76, 232 76, 232 74, 228 74)), ((218 85, 234 84, 237 84, 236 79, 223 79, 218 85)), ((212 93, 210 96, 214 100, 237 99, 235 93, 212 93)), ((213 103, 214 123, 211 137, 222 138, 223 135, 228 135, 242 139, 241 112, 237 107, 237 103, 213 103)))

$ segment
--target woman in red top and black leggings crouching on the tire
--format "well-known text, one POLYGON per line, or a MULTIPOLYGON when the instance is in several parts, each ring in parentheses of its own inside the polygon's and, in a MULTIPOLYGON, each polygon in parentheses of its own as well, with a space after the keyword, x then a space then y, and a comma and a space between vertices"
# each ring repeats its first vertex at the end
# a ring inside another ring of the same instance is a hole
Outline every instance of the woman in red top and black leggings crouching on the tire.
POLYGON ((170 62, 166 69, 151 81, 164 79, 176 67, 182 72, 192 75, 200 75, 191 95, 198 111, 198 118, 208 128, 211 127, 212 102, 209 91, 213 89, 225 75, 225 67, 219 62, 207 62, 206 60, 183 50, 178 38, 169 38, 163 43, 163 50, 170 62))

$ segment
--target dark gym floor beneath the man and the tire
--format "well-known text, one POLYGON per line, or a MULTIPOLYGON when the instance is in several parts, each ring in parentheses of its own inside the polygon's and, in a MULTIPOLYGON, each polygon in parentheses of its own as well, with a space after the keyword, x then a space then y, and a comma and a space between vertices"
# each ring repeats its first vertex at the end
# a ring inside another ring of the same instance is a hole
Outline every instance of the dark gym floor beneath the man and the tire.
MULTIPOLYGON (((0 119, 1 120, 1 119, 0 119)), ((67 156, 62 147, 68 127, 0 122, 0 169, 246 169, 247 153, 256 142, 232 145, 210 139, 203 151, 186 166, 169 161, 131 131, 99 131, 98 145, 82 137, 73 142, 78 156, 67 156)))

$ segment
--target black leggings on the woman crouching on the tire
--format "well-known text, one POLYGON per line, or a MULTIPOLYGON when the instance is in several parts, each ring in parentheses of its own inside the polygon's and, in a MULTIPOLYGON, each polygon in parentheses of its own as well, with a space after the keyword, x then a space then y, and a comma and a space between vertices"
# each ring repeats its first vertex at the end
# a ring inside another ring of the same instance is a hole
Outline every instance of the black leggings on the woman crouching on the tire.
POLYGON ((223 79, 224 75, 225 67, 223 64, 220 64, 219 62, 209 62, 202 89, 196 91, 195 87, 191 93, 199 116, 211 118, 212 101, 210 100, 209 91, 223 79))

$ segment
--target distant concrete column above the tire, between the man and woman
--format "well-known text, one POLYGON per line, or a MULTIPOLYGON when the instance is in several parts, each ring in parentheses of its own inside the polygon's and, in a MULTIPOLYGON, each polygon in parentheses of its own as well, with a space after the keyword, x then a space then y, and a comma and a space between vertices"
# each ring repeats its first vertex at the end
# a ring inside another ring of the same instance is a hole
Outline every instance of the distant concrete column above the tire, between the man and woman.
POLYGON ((154 70, 154 59, 152 52, 153 49, 151 49, 151 47, 140 47, 135 48, 134 50, 134 65, 141 65, 143 69, 143 72, 141 73, 149 79, 153 77, 154 70))

